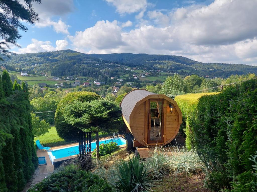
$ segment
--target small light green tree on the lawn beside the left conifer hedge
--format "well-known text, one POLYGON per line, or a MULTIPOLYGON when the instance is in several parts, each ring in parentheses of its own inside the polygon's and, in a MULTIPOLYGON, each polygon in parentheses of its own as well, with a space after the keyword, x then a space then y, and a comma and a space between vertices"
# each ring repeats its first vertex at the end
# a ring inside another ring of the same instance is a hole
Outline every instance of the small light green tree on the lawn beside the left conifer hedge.
POLYGON ((39 137, 49 132, 50 124, 45 122, 45 120, 39 120, 35 113, 31 113, 32 117, 32 134, 34 137, 39 137))

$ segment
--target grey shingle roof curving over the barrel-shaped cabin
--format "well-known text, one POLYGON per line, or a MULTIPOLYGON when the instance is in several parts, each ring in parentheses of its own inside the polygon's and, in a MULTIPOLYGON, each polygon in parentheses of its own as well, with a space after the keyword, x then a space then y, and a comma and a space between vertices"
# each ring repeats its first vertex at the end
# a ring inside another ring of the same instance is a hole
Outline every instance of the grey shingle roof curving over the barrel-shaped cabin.
POLYGON ((130 117, 130 114, 131 114, 132 110, 134 109, 136 103, 139 102, 140 100, 144 99, 148 95, 153 95, 153 94, 156 94, 156 93, 152 93, 152 92, 149 92, 144 89, 135 89, 135 90, 132 90, 131 92, 127 93, 123 97, 123 99, 120 103, 120 107, 121 107, 122 115, 124 116, 124 118, 126 119, 126 121, 128 123, 130 123, 129 117, 130 117))

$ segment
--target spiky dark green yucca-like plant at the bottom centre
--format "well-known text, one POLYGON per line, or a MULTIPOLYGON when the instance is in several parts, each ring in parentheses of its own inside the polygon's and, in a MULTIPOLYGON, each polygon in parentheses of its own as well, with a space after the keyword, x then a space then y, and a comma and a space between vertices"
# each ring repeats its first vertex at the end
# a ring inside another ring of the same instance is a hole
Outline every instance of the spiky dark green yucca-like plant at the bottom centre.
POLYGON ((146 164, 133 156, 128 162, 122 160, 118 166, 118 188, 125 192, 147 191, 153 186, 146 164))

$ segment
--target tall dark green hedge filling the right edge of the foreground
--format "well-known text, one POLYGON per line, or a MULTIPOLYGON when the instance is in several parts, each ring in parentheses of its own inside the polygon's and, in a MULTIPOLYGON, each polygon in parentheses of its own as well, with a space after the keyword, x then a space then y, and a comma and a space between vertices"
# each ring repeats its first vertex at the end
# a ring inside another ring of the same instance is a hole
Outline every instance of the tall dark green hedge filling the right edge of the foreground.
POLYGON ((257 151, 257 80, 199 99, 193 127, 198 155, 215 190, 255 191, 257 151))

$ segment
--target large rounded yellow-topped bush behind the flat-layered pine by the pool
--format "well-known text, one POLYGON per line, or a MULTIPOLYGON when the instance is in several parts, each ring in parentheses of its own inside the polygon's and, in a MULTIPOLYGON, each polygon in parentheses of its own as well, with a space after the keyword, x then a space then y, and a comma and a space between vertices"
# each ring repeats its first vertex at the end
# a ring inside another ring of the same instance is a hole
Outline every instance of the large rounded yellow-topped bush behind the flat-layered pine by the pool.
POLYGON ((58 103, 55 113, 55 127, 58 135, 66 141, 77 141, 78 130, 65 122, 63 117, 63 109, 68 103, 72 103, 75 100, 81 102, 89 102, 94 99, 100 99, 100 95, 93 92, 72 92, 65 95, 65 97, 58 103))

